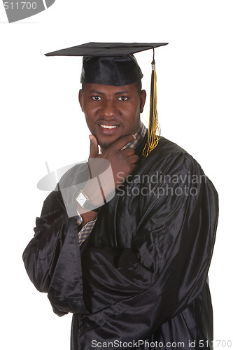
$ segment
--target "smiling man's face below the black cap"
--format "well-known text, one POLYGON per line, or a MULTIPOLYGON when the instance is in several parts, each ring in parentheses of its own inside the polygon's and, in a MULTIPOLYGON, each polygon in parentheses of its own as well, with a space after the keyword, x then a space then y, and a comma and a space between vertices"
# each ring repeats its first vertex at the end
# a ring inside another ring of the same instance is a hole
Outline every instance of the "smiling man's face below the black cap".
POLYGON ((101 148, 108 148, 120 137, 135 134, 146 91, 139 94, 135 83, 125 86, 86 83, 79 92, 79 102, 90 132, 101 148))

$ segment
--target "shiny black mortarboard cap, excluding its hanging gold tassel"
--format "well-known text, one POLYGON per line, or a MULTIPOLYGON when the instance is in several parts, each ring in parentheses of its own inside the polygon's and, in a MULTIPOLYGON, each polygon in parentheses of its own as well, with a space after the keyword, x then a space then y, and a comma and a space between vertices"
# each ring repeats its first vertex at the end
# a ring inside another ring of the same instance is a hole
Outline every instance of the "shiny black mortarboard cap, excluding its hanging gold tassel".
POLYGON ((45 56, 83 56, 80 83, 124 86, 143 77, 133 54, 164 45, 167 43, 85 43, 45 56))

